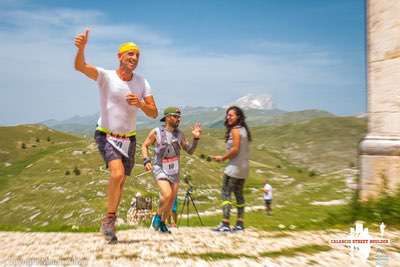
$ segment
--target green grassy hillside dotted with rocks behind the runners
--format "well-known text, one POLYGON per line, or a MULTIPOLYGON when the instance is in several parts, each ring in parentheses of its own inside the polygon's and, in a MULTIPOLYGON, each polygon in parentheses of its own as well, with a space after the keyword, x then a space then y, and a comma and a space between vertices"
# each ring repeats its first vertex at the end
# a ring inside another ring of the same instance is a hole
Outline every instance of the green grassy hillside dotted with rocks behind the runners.
MULTIPOLYGON (((190 130, 185 132, 190 136, 190 130)), ((354 178, 356 171, 348 168, 349 162, 355 161, 355 148, 364 132, 365 121, 355 118, 320 118, 302 124, 252 128, 247 206, 262 208, 261 188, 268 177, 274 188, 276 215, 249 212, 248 224, 264 229, 278 229, 279 224, 293 224, 297 229, 321 227, 327 211, 337 207, 313 203, 350 199, 346 177, 354 178)), ((146 134, 138 133, 139 146, 146 134)), ((223 135, 223 129, 204 129, 195 155, 182 154, 182 174, 192 177, 196 204, 200 211, 215 212, 204 218, 208 225, 220 219, 224 165, 210 162, 207 157, 223 153, 223 135)), ((105 211, 109 174, 92 139, 40 125, 2 127, 0 137, 1 229, 71 230, 74 225, 80 230, 98 229, 105 211)), ((158 196, 153 178, 143 174, 141 156, 137 154, 136 159, 134 175, 126 181, 121 202, 119 215, 123 219, 137 191, 158 196)), ((185 189, 182 183, 181 199, 185 189)))

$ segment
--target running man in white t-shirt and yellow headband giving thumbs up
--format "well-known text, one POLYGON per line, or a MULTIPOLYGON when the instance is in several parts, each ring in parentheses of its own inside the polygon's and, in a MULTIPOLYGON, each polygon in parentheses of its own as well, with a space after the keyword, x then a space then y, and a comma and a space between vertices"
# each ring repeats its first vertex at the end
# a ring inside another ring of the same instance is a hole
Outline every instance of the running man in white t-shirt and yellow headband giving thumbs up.
POLYGON ((75 69, 97 81, 100 91, 100 119, 95 139, 108 169, 107 214, 101 223, 101 232, 109 242, 116 242, 115 221, 118 205, 127 175, 135 162, 136 114, 142 110, 156 118, 157 107, 149 83, 134 72, 139 62, 139 47, 132 42, 118 49, 119 67, 105 70, 86 63, 85 48, 89 29, 75 37, 78 48, 75 69))

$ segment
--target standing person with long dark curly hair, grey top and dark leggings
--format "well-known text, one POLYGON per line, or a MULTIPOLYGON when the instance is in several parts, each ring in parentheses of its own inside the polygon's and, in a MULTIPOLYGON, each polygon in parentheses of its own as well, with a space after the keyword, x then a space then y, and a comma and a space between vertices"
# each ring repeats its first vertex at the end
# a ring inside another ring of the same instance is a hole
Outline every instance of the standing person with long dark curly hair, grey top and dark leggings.
POLYGON ((231 231, 229 226, 230 210, 232 206, 231 193, 236 198, 237 221, 233 231, 244 230, 244 197, 243 187, 249 174, 249 144, 251 133, 246 124, 246 116, 237 106, 229 107, 225 117, 226 152, 222 156, 213 156, 218 162, 229 160, 224 170, 222 183, 222 213, 221 224, 215 228, 218 232, 231 231))

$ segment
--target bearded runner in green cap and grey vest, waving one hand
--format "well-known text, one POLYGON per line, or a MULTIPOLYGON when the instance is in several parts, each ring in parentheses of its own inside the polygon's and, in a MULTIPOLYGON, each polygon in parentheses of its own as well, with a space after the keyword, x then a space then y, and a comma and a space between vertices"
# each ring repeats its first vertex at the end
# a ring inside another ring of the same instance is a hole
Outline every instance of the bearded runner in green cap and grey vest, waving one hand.
POLYGON ((193 154, 201 135, 201 126, 196 123, 192 128, 193 142, 189 144, 178 127, 181 111, 176 107, 164 110, 160 120, 165 125, 153 129, 142 145, 143 164, 146 171, 152 171, 160 187, 161 200, 157 214, 153 217, 152 226, 162 233, 170 233, 165 220, 168 217, 179 187, 180 150, 193 154), (149 147, 155 144, 155 157, 149 157, 149 147))

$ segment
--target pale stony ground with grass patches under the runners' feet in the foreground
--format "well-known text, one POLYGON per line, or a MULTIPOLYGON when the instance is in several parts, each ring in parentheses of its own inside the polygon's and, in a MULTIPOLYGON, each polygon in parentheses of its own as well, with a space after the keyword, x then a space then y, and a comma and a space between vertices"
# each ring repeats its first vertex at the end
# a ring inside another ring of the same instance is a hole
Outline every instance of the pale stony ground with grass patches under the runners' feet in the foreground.
POLYGON ((385 231, 391 244, 372 247, 367 262, 330 244, 347 236, 340 230, 181 227, 161 234, 140 228, 120 231, 118 244, 109 245, 98 233, 0 232, 0 266, 400 266, 400 231, 385 231))

